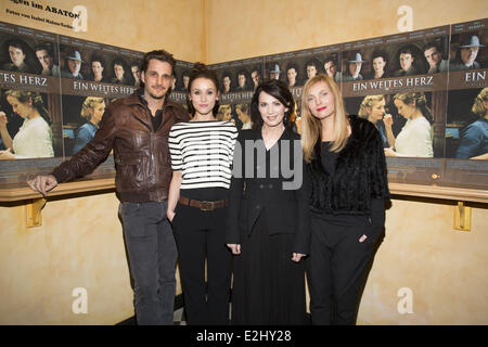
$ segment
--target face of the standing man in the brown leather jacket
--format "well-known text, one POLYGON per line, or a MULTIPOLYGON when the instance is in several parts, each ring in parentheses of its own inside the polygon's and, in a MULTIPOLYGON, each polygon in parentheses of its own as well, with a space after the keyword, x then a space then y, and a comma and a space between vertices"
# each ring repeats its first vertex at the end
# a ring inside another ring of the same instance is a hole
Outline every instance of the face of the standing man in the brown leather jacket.
POLYGON ((153 101, 164 99, 172 83, 171 65, 157 59, 149 61, 147 68, 141 73, 144 97, 153 101))

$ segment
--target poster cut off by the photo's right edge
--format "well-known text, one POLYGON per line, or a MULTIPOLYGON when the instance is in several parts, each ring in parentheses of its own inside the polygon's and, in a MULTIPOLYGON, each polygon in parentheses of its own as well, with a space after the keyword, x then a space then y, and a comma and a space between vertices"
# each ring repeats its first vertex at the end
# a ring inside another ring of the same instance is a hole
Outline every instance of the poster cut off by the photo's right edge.
POLYGON ((451 25, 446 180, 488 185, 488 20, 451 25))

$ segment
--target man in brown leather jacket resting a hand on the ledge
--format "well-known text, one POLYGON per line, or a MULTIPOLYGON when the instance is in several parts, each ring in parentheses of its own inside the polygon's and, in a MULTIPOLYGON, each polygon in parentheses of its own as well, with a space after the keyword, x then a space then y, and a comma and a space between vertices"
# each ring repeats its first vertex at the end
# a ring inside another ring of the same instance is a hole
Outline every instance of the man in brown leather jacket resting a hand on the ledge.
POLYGON ((170 53, 146 53, 143 89, 111 104, 93 140, 52 175, 27 182, 46 195, 57 183, 92 172, 114 150, 119 215, 139 324, 172 325, 177 248, 166 218, 172 172, 168 134, 175 123, 189 119, 181 105, 168 100, 174 72, 170 53))

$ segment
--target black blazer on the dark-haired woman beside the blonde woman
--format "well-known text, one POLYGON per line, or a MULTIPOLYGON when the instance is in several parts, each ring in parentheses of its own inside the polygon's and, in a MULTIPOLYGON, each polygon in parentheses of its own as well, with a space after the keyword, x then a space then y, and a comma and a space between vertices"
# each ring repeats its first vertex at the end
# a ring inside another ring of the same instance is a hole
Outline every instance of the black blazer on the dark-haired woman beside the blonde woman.
POLYGON ((266 151, 260 130, 242 130, 234 150, 226 242, 242 243, 266 210, 269 234, 294 233, 293 252, 309 254, 309 183, 306 175, 301 142, 296 132, 285 129, 277 143, 266 151), (290 163, 283 162, 285 153, 290 153, 290 163), (293 174, 295 170, 299 175, 293 174))

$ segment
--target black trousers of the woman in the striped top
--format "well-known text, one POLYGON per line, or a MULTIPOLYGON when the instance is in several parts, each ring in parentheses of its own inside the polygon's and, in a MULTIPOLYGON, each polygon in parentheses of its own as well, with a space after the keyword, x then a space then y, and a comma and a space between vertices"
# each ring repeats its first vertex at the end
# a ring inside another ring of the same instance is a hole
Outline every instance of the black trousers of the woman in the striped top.
POLYGON ((175 213, 172 227, 187 322, 192 325, 228 324, 232 255, 226 246, 227 208, 202 211, 178 204, 175 213))

